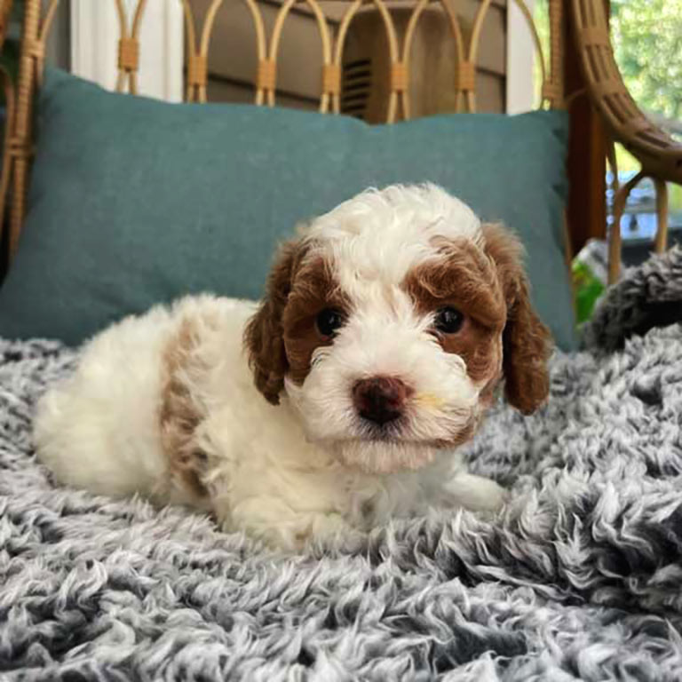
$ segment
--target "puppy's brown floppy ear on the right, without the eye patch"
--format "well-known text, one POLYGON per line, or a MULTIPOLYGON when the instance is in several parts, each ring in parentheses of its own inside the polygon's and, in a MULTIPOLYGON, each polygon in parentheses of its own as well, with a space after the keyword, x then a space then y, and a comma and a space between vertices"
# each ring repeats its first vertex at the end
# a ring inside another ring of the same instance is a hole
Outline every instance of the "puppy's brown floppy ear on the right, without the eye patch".
POLYGON ((550 391, 547 360, 551 334, 530 304, 521 243, 502 226, 484 225, 482 230, 485 249, 496 263, 507 305, 503 332, 504 394, 513 407, 528 415, 543 404, 550 391))

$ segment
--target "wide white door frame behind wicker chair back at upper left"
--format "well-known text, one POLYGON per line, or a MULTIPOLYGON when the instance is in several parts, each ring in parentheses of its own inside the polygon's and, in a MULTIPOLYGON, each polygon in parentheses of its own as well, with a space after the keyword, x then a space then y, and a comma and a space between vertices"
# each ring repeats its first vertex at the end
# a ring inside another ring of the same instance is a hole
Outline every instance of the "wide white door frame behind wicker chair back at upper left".
MULTIPOLYGON (((137 0, 124 0, 130 22, 137 0)), ((183 16, 179 0, 149 0, 139 36, 139 93, 182 100, 183 16)), ((114 0, 71 0, 71 71, 113 90, 120 27, 114 0)))

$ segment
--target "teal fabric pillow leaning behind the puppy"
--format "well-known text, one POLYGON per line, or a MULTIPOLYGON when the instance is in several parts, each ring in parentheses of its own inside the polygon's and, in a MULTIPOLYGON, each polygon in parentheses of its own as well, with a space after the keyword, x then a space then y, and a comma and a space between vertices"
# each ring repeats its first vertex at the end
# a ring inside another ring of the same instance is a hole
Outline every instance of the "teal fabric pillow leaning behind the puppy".
POLYGON ((443 115, 369 126, 248 105, 168 104, 48 70, 0 335, 78 344, 210 290, 259 297, 294 225, 368 186, 430 180, 526 245, 535 306, 574 347, 562 220, 567 118, 443 115))

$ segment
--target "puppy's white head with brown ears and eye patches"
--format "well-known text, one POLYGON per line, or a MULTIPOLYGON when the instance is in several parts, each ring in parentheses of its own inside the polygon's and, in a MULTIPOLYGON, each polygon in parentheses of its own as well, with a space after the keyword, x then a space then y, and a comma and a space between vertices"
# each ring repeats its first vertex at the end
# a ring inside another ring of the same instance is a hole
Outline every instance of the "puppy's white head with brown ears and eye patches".
POLYGON ((518 240, 432 185, 313 221, 280 252, 245 343, 266 399, 285 391, 311 440, 369 472, 470 438, 503 376, 525 414, 549 388, 518 240))

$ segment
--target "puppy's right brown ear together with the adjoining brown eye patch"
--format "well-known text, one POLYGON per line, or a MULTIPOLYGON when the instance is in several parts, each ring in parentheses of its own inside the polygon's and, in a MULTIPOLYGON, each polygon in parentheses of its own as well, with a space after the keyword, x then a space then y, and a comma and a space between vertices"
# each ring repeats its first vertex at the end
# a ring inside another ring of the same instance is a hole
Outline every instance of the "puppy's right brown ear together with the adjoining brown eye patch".
POLYGON ((439 340, 462 356, 473 381, 487 381, 481 400, 492 401, 504 374, 507 400, 529 414, 549 393, 550 333, 530 305, 519 240, 501 226, 482 231, 483 250, 464 240, 439 243, 442 259, 416 268, 405 287, 422 313, 445 305, 464 313, 462 329, 439 340))

